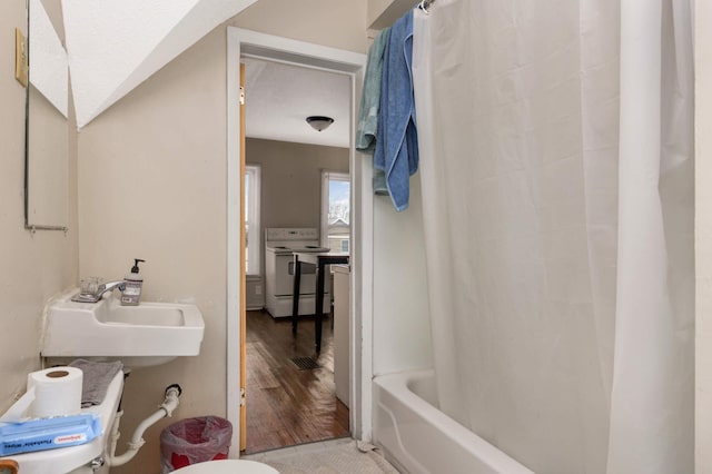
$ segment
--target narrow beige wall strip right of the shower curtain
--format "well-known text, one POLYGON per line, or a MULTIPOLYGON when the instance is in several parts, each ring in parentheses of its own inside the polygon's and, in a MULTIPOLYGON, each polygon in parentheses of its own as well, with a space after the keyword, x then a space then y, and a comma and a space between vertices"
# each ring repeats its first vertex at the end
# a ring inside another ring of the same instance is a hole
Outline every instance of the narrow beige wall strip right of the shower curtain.
POLYGON ((712 473, 712 3, 695 2, 695 473, 712 473), (705 27, 705 24, 708 24, 705 27))

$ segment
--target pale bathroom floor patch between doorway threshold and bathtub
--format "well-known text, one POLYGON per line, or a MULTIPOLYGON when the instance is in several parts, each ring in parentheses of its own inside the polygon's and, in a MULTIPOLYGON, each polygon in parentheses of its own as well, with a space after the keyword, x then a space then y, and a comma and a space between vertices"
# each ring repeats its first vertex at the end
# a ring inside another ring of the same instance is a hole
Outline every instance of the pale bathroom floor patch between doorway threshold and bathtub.
POLYGON ((266 451, 241 456, 243 460, 269 464, 280 474, 397 474, 377 450, 370 445, 358 448, 352 438, 330 440, 266 451))

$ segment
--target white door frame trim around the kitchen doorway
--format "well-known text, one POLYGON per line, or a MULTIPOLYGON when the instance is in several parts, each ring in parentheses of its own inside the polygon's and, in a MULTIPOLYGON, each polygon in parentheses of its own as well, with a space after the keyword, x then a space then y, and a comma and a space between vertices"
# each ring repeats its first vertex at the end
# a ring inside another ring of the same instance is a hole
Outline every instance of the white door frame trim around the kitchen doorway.
MULTIPOLYGON (((356 90, 360 90, 360 82, 363 70, 365 67, 365 55, 354 53, 350 51, 335 50, 333 48, 320 47, 310 43, 304 43, 300 41, 288 40, 284 38, 273 37, 268 34, 257 33, 254 31, 241 30, 238 28, 228 28, 228 130, 236 130, 239 127, 240 118, 237 107, 237 99, 239 98, 239 90, 237 85, 239 83, 239 69, 238 61, 243 56, 250 56, 256 58, 264 58, 273 61, 281 61, 286 63, 299 65, 303 67, 320 69, 324 71, 336 72, 345 75, 350 80, 350 120, 355 120, 355 110, 357 106, 355 103, 356 90)), ((239 263, 244 258, 244 249, 237 244, 238 236, 241 231, 239 225, 239 208, 243 195, 243 186, 239 179, 239 162, 240 151, 238 137, 234 134, 228 134, 228 393, 227 393, 227 414, 228 419, 234 426, 240 425, 239 409, 240 401, 244 399, 245 393, 239 387, 239 367, 240 367, 240 327, 239 327, 239 307, 241 305, 245 295, 239 290, 239 263)), ((353 149, 353 131, 349 139, 349 164, 352 170, 352 189, 358 189, 360 181, 364 179, 362 166, 355 166, 356 155, 353 149)), ((368 176, 368 179, 370 177, 368 176)), ((356 199, 354 196, 357 191, 352 191, 352 201, 355 204, 352 213, 354 223, 362 220, 363 210, 358 209, 356 199)), ((355 238, 356 234, 352 233, 350 238, 353 243, 352 248, 352 271, 354 275, 354 284, 352 288, 358 287, 359 275, 359 261, 363 258, 359 255, 359 239, 355 238)), ((366 246, 368 247, 368 246, 366 246)), ((349 350, 352 355, 352 409, 349 413, 349 425, 352 426, 352 434, 359 437, 363 423, 363 411, 360 409, 363 403, 362 394, 362 379, 364 376, 369 377, 369 371, 362 371, 360 361, 362 352, 362 324, 359 322, 362 308, 359 307, 359 300, 352 298, 352 313, 354 319, 352 323, 352 340, 349 344, 349 350), (356 330, 356 328, 358 328, 356 330), (368 374, 367 374, 368 373, 368 374)), ((327 319, 328 322, 328 319, 327 319)), ((306 325, 305 325, 306 326, 306 325)), ((369 337, 368 337, 369 340, 369 337)), ((367 340, 366 340, 367 342, 367 340)), ((249 404, 249 389, 247 391, 247 404, 249 404)), ((240 443, 240 429, 234 429, 233 445, 239 445, 240 443)))

